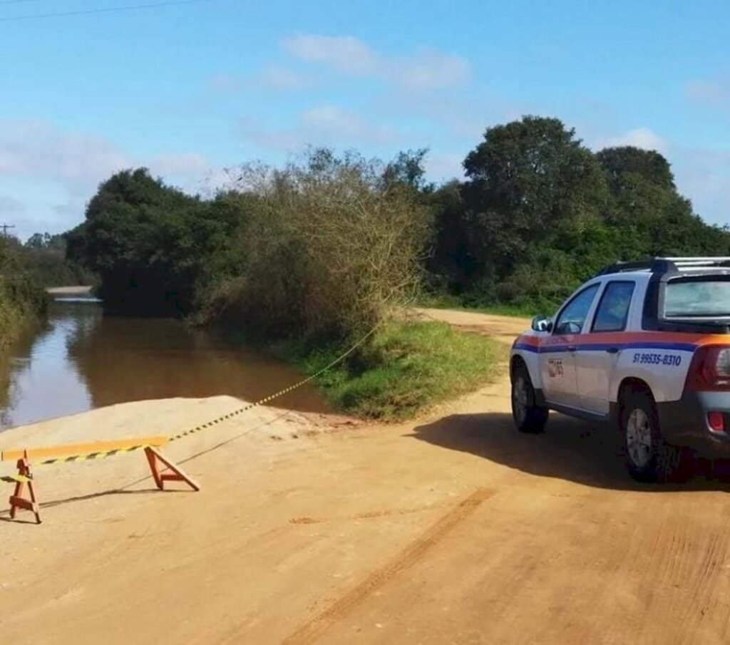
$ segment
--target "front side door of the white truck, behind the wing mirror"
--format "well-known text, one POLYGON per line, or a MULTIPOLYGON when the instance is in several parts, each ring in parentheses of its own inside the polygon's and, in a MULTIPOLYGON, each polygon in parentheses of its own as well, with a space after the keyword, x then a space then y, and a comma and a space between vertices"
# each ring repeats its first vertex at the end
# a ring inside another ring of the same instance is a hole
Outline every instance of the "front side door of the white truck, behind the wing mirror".
POLYGON ((583 328, 600 284, 585 287, 561 309, 553 332, 540 346, 540 375, 545 398, 572 408, 580 407, 575 358, 583 328))

